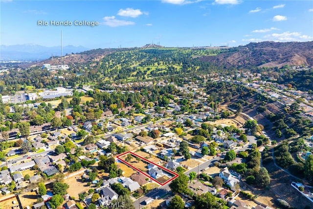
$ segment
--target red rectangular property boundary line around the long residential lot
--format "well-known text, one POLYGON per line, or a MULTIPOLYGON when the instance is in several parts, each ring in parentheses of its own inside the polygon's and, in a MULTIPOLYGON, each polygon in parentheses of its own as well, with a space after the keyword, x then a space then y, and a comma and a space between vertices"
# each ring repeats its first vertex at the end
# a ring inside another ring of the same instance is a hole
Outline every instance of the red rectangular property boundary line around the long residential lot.
POLYGON ((159 184, 159 185, 161 185, 161 186, 164 186, 164 185, 166 185, 167 183, 169 183, 170 181, 172 181, 172 180, 176 179, 177 177, 179 177, 179 175, 178 175, 177 173, 174 173, 173 171, 171 171, 171 170, 169 170, 169 169, 166 169, 165 167, 162 167, 162 166, 160 166, 160 165, 158 165, 158 164, 156 164, 156 163, 153 163, 153 162, 151 162, 151 161, 149 161, 149 160, 147 160, 147 159, 145 159, 145 158, 143 158, 143 157, 141 157, 141 156, 139 156, 139 155, 137 155, 137 154, 135 154, 135 153, 133 153, 133 152, 131 152, 131 151, 128 151, 128 152, 124 152, 124 153, 122 153, 122 154, 119 154, 118 156, 116 156, 116 158, 117 158, 118 160, 120 160, 122 163, 127 164, 128 166, 130 166, 130 167, 133 168, 134 170, 136 170, 136 171, 142 173, 143 175, 147 176, 149 179, 152 179, 153 181, 155 181, 157 184, 159 184), (174 177, 171 178, 171 179, 169 179, 169 180, 167 180, 167 181, 164 182, 164 183, 161 183, 161 182, 157 181, 155 178, 153 178, 152 176, 150 176, 150 175, 148 175, 147 173, 145 173, 145 172, 139 170, 138 168, 134 167, 134 166, 131 165, 130 163, 128 163, 128 162, 126 162, 126 161, 124 161, 123 159, 120 158, 121 156, 126 155, 126 154, 131 154, 131 155, 133 155, 133 156, 136 156, 136 157, 140 158, 140 159, 143 160, 143 161, 146 161, 146 162, 148 162, 148 163, 152 163, 152 164, 156 165, 157 167, 159 167, 160 169, 165 170, 166 172, 168 172, 168 173, 170 173, 170 174, 173 174, 174 177))

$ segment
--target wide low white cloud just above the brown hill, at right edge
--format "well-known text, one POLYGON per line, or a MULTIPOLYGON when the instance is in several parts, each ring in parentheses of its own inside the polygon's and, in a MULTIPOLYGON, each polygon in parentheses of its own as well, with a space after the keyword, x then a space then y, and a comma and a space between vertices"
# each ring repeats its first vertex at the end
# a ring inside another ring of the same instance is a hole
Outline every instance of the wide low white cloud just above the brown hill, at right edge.
POLYGON ((302 35, 300 32, 283 32, 283 33, 272 33, 264 36, 267 40, 286 42, 286 41, 312 41, 313 37, 308 35, 302 35))

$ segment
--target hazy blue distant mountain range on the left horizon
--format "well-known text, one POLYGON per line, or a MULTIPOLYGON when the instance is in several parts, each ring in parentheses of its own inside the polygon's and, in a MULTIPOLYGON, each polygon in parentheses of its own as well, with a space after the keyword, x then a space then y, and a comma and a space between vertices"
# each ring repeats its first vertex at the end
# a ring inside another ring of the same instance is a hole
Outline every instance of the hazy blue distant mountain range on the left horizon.
MULTIPOLYGON (((89 50, 84 46, 63 46, 63 55, 89 50)), ((0 45, 0 60, 43 60, 61 56, 61 46, 40 46, 33 44, 0 45)))

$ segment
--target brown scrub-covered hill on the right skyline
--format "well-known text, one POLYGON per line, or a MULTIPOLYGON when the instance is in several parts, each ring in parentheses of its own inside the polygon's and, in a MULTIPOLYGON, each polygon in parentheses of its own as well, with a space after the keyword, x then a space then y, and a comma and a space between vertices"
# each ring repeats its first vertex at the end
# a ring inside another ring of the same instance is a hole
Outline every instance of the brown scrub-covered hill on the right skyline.
POLYGON ((225 67, 313 66, 313 42, 250 43, 235 52, 200 59, 225 67))

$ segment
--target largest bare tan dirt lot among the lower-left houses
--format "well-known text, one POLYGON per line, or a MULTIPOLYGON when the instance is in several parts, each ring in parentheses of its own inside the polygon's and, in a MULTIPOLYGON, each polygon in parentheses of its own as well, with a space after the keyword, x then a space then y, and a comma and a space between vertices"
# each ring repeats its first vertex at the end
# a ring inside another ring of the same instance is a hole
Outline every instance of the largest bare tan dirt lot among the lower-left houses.
MULTIPOLYGON (((84 191, 88 191, 91 186, 87 186, 87 183, 81 182, 81 174, 77 176, 72 176, 66 180, 66 183, 69 185, 67 192, 69 196, 74 196, 75 199, 78 199, 78 194, 84 191), (77 179, 76 179, 77 178, 77 179)), ((94 188, 93 188, 94 189, 94 188)))

